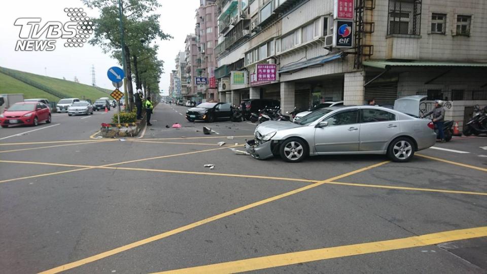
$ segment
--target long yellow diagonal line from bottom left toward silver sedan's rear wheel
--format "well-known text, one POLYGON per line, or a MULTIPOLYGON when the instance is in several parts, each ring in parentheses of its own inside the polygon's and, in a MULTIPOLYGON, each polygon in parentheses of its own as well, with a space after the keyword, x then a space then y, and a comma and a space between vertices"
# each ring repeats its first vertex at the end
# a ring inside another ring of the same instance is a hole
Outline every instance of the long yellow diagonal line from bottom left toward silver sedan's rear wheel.
MULTIPOLYGON (((374 164, 372 166, 376 167, 376 166, 379 166, 379 165, 382 165, 382 164, 385 164, 385 163, 388 163, 388 162, 389 161, 381 162, 381 163, 378 163, 378 164, 374 164)), ((369 168, 365 167, 365 168, 361 168, 359 170, 367 170, 367 169, 369 169, 369 168)), ((355 174, 355 173, 357 173, 357 172, 350 172, 350 173, 347 173, 347 174, 355 174)), ((132 248, 136 248, 136 247, 139 247, 139 246, 142 246, 142 245, 145 245, 145 244, 148 244, 148 243, 157 241, 159 239, 162 239, 162 238, 165 238, 165 237, 168 237, 168 236, 171 236, 171 235, 174 235, 174 234, 177 234, 177 233, 180 233, 180 232, 183 232, 183 231, 186 231, 186 230, 195 228, 197 226, 200 226, 200 225, 203 225, 203 224, 206 224, 206 223, 210 223, 210 222, 219 220, 221 218, 224 218, 224 217, 227 217, 227 216, 230 216, 230 215, 233 215, 233 214, 236 214, 236 213, 239 213, 239 212, 248 210, 248 209, 252 209, 252 208, 258 207, 259 205, 262 205, 262 204, 265 204, 265 203, 268 203, 268 202, 271 202, 271 201, 275 201, 275 200, 278 200, 278 199, 281 199, 281 198, 284 198, 284 197, 287 197, 287 196, 290 196, 290 195, 293 195, 293 194, 296 194, 296 193, 299 193, 299 192, 302 192, 302 191, 305 191, 305 190, 308 190, 308 189, 311 189, 311 188, 318 187, 318 186, 320 186, 322 184, 325 184, 326 181, 327 180, 321 181, 321 182, 318 182, 318 183, 315 183, 315 184, 310 184, 310 185, 307 185, 307 186, 304 186, 304 187, 300 187, 300 188, 295 189, 295 190, 288 191, 288 192, 283 193, 283 194, 279 194, 279 195, 276 195, 276 196, 273 196, 273 197, 270 197, 270 198, 266 198, 266 199, 263 199, 263 200, 260 200, 260 201, 256 201, 256 202, 253 202, 251 204, 244 205, 243 207, 236 208, 234 210, 227 211, 227 212, 224 212, 224 213, 220 213, 218 215, 215 215, 215 216, 212 216, 212 217, 209 217, 209 218, 206 218, 206 219, 203 219, 203 220, 200 220, 200 221, 197 221, 197 222, 194 222, 194 223, 191 223, 191 224, 188 224, 188 225, 185 225, 185 226, 182 226, 182 227, 179 227, 179 228, 170 230, 170 231, 166 231, 164 233, 161 233, 161 234, 158 234, 158 235, 155 235, 155 236, 152 236, 152 237, 148 237, 148 238, 142 239, 140 241, 137 241, 137 242, 134 242, 134 243, 125 245, 125 246, 121 246, 121 247, 118 247, 118 248, 115 248, 115 249, 112 249, 112 250, 109 250, 109 251, 106 251, 106 252, 103 252, 103 253, 100 253, 100 254, 97 254, 97 255, 93 255, 93 256, 90 256, 90 257, 87 257, 87 258, 84 258, 84 259, 75 261, 75 262, 71 262, 71 263, 67 263, 67 264, 60 265, 58 267, 54 267, 52 269, 49 269, 49 270, 46 270, 46 271, 41 272, 41 274, 45 274, 45 273, 58 273, 58 272, 61 272, 61 271, 67 270, 67 269, 72 269, 72 268, 75 268, 75 267, 78 267, 78 266, 81 266, 81 265, 84 265, 84 264, 87 264, 87 263, 90 263, 90 262, 94 262, 94 261, 97 261, 97 260, 100 260, 100 259, 103 259, 103 258, 112 256, 112 255, 118 254, 120 252, 129 250, 129 249, 132 249, 132 248)))

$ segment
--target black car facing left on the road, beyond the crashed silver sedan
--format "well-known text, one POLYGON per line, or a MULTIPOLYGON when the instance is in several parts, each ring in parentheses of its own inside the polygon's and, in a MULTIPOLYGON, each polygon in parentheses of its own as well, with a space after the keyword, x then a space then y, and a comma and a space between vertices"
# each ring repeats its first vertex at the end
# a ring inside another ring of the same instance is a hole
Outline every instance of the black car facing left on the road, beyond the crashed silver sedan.
POLYGON ((232 106, 229 103, 223 102, 204 102, 186 111, 186 119, 190 122, 194 122, 195 120, 214 122, 223 119, 230 120, 231 117, 232 106))

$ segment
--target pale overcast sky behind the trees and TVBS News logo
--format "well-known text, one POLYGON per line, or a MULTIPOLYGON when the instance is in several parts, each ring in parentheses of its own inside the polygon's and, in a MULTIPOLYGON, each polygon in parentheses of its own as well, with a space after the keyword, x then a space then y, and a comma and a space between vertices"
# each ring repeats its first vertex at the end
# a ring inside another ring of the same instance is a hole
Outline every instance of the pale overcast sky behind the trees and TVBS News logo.
MULTIPOLYGON (((164 71, 160 88, 167 92, 169 73, 175 69, 176 54, 184 50, 186 35, 194 32, 195 10, 199 6, 198 0, 159 0, 162 7, 161 29, 172 35, 170 41, 158 41, 159 59, 164 60, 164 71)), ((42 18, 41 27, 47 21, 69 21, 64 8, 83 8, 89 17, 98 17, 98 11, 83 6, 80 0, 14 0, 3 1, 0 8, 0 66, 15 70, 63 78, 73 81, 75 76, 81 83, 91 85, 91 65, 95 67, 96 85, 112 89, 111 81, 107 78, 109 67, 118 65, 109 54, 104 54, 97 46, 88 43, 82 48, 65 48, 63 42, 56 42, 54 51, 15 51, 19 40, 20 26, 14 22, 19 17, 42 18)), ((45 37, 41 38, 45 39, 45 37)), ((0 83, 1 85, 2 83, 0 83)))

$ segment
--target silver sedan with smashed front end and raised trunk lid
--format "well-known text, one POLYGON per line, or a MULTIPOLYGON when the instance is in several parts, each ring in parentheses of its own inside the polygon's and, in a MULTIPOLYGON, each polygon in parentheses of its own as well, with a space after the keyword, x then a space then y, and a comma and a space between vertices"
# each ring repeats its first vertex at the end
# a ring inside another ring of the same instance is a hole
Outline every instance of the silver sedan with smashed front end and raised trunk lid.
MULTIPOLYGON (((419 101, 418 107, 419 111, 419 101)), ((296 122, 267 121, 246 144, 256 159, 280 155, 288 162, 329 154, 387 154, 406 162, 436 142, 431 120, 374 106, 331 107, 296 122)))

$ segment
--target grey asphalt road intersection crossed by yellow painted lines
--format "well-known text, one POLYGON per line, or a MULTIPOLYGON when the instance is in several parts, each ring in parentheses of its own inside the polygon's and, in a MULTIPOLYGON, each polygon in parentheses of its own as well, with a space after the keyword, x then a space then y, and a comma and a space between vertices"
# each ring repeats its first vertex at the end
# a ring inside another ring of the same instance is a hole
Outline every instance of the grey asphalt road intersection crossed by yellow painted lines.
POLYGON ((113 110, 0 129, 0 272, 487 272, 487 138, 258 161, 229 150, 256 124, 186 109, 125 141, 90 138, 113 110))

